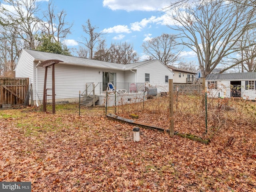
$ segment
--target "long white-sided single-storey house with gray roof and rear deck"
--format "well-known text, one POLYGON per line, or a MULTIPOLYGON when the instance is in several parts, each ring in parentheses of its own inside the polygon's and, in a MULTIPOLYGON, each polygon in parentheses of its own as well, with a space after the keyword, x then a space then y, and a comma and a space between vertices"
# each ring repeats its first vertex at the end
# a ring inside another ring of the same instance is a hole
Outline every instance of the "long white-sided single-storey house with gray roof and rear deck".
MULTIPOLYGON (((86 95, 87 98, 88 95, 94 94, 99 97, 96 104, 104 105, 108 83, 111 82, 117 90, 126 90, 122 94, 118 92, 119 96, 122 96, 118 102, 131 103, 136 100, 135 98, 145 97, 145 86, 156 87, 158 93, 167 92, 168 79, 173 77, 172 70, 159 60, 124 65, 23 49, 16 64, 16 77, 29 78, 32 89, 30 102, 37 106, 42 104, 43 100, 45 79, 43 63, 47 60, 60 61, 54 64, 56 102, 78 102, 80 95, 86 95)), ((48 70, 46 77, 46 96, 47 100, 50 100, 52 70, 48 70)), ((112 94, 108 97, 110 98, 113 105, 116 97, 112 94)))

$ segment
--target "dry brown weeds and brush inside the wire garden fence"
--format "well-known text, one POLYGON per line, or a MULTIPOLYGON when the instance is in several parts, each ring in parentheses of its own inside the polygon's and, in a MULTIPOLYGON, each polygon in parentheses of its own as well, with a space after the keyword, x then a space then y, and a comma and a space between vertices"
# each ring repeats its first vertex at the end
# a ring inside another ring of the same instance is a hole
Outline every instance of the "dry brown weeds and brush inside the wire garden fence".
MULTIPOLYGON (((207 98, 207 134, 205 126, 205 101, 201 95, 174 95, 174 131, 189 133, 201 138, 219 138, 222 135, 224 146, 250 143, 254 139, 256 127, 256 103, 233 98, 207 98), (242 132, 244 136, 239 136, 242 132), (228 134, 227 134, 228 133, 228 134), (249 135, 249 138, 246 136, 249 135), (237 139, 240 137, 240 139, 237 139), (246 138, 247 142, 242 142, 246 138)), ((147 122, 162 128, 170 126, 169 98, 152 98, 144 103, 134 103, 116 107, 116 113, 124 118, 137 114, 138 121, 147 122)), ((248 146, 249 148, 249 146, 248 146)), ((250 150, 255 148, 251 146, 250 150)))

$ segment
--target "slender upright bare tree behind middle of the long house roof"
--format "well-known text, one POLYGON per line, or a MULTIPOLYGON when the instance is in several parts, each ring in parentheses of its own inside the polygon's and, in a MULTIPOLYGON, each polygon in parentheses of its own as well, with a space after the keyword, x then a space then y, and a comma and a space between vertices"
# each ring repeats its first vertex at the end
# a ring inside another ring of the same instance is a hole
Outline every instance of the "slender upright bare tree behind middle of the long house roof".
POLYGON ((83 37, 85 42, 82 42, 89 50, 89 58, 93 58, 94 48, 96 44, 101 40, 104 33, 96 32, 97 27, 92 26, 90 20, 88 19, 86 25, 82 25, 84 32, 88 37, 83 37))

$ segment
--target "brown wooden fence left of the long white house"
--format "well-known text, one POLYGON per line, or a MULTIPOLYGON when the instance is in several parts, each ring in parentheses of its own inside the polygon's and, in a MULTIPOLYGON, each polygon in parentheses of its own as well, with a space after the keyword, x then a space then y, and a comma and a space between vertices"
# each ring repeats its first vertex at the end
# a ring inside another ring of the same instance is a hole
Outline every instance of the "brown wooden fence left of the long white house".
POLYGON ((26 104, 28 78, 0 78, 0 107, 26 104))

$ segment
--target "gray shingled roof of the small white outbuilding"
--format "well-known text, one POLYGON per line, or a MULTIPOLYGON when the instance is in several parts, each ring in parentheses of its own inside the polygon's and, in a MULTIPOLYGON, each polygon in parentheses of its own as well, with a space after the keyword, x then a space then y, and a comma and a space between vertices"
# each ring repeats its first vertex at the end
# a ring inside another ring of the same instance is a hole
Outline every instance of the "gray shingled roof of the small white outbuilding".
POLYGON ((256 72, 208 74, 205 80, 250 80, 256 79, 256 72))

